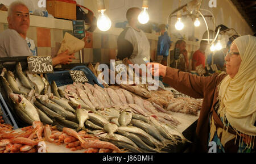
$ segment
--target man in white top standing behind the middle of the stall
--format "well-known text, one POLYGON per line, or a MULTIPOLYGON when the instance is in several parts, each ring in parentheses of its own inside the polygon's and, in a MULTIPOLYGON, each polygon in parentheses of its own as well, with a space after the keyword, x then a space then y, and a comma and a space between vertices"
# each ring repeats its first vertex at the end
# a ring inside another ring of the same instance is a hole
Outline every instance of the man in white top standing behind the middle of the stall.
POLYGON ((126 12, 128 26, 117 39, 117 58, 128 58, 129 64, 146 64, 150 62, 150 43, 145 33, 138 28, 138 15, 141 9, 131 7, 126 12))

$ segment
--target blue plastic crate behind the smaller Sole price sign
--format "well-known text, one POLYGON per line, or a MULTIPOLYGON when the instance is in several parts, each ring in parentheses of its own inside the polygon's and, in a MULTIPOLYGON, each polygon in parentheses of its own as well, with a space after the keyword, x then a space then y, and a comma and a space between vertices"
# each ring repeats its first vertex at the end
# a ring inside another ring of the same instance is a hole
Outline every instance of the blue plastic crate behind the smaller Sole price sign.
MULTIPOLYGON (((71 70, 82 70, 84 72, 84 74, 86 75, 86 77, 88 78, 88 83, 90 83, 91 85, 97 84, 98 86, 101 86, 102 88, 104 87, 103 85, 98 83, 97 77, 86 66, 75 66, 71 70)), ((73 83, 73 80, 72 80, 71 75, 69 74, 68 70, 47 73, 46 78, 50 84, 52 83, 52 81, 55 81, 55 83, 58 87, 64 86, 64 85, 69 85, 69 84, 73 83)))

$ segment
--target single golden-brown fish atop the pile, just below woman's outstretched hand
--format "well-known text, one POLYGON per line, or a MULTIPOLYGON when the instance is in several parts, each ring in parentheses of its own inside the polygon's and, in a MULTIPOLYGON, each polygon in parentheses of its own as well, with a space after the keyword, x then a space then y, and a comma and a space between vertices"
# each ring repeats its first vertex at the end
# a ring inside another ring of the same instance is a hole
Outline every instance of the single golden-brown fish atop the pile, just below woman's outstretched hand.
POLYGON ((141 86, 131 86, 131 85, 125 85, 125 84, 120 84, 120 86, 123 88, 123 89, 126 89, 128 91, 131 91, 139 96, 142 96, 144 98, 150 98, 151 97, 151 94, 150 94, 150 91, 144 89, 144 87, 141 87, 141 86))

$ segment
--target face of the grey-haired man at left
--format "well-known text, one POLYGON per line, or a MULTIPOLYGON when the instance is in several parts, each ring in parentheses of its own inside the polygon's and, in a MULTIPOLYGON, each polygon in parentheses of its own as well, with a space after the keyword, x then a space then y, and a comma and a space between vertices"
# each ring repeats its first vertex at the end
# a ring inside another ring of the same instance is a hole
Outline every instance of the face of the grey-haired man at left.
POLYGON ((7 20, 9 28, 26 35, 30 26, 30 14, 26 6, 15 6, 11 15, 7 17, 7 20))

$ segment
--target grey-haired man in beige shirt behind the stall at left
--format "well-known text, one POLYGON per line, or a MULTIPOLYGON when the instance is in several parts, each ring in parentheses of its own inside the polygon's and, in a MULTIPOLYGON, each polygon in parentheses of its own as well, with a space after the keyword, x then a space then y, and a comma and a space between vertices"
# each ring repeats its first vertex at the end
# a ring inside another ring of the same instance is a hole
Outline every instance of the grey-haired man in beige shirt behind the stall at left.
MULTIPOLYGON (((9 28, 0 33, 0 57, 35 55, 36 53, 32 54, 35 51, 34 47, 28 47, 30 41, 26 40, 27 31, 30 27, 28 7, 20 1, 11 3, 7 21, 9 28)), ((75 58, 74 54, 69 55, 68 51, 65 51, 52 58, 52 65, 69 64, 72 62, 72 58, 75 58)))

